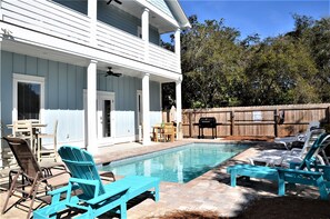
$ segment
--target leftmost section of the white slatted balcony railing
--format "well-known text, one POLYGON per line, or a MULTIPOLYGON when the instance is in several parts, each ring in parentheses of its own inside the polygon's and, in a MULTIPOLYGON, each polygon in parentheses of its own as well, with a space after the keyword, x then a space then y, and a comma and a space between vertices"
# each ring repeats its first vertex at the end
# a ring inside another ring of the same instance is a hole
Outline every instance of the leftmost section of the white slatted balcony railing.
POLYGON ((90 19, 59 4, 46 0, 3 0, 1 9, 2 20, 6 22, 70 41, 89 43, 90 19))

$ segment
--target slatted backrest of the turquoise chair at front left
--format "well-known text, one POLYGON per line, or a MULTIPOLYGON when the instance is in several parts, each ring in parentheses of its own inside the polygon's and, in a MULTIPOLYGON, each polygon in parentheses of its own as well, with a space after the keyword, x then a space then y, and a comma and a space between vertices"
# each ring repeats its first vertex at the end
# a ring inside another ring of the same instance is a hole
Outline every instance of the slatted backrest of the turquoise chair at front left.
MULTIPOLYGON (((78 147, 62 146, 59 149, 59 155, 61 156, 62 161, 67 165, 73 178, 99 181, 98 196, 106 192, 93 158, 89 152, 78 147)), ((94 198, 94 186, 79 183, 79 187, 82 189, 84 197, 94 198)))

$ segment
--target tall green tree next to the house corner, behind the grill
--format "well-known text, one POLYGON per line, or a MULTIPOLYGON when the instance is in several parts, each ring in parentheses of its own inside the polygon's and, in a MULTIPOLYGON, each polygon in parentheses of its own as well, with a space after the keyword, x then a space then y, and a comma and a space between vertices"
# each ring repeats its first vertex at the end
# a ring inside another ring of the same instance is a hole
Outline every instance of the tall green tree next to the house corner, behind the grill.
POLYGON ((236 46, 239 31, 223 20, 189 18, 192 28, 182 33, 182 104, 212 108, 232 102, 231 84, 239 78, 241 50, 236 46))

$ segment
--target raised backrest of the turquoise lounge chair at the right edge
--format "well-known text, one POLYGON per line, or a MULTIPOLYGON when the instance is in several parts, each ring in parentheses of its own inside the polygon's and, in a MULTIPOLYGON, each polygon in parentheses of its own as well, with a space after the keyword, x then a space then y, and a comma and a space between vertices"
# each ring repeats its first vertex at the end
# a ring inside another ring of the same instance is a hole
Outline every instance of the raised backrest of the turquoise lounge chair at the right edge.
MULTIPOLYGON (((314 130, 313 130, 314 131, 314 130)), ((312 132, 313 132, 312 131, 312 132)), ((321 133, 319 138, 313 142, 311 148, 308 150, 307 155, 304 156, 302 162, 300 163, 299 169, 308 168, 311 169, 311 165, 317 165, 316 157, 319 153, 320 150, 323 150, 330 143, 330 135, 328 133, 321 133)))

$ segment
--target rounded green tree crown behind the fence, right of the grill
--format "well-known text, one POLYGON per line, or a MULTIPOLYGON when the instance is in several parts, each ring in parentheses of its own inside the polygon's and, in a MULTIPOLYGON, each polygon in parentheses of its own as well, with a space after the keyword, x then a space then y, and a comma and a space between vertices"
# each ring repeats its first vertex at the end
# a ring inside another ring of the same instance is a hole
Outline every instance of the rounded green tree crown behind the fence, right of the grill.
POLYGON ((249 104, 308 103, 318 100, 314 62, 303 43, 283 36, 260 44, 246 69, 241 102, 249 104))

